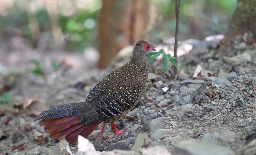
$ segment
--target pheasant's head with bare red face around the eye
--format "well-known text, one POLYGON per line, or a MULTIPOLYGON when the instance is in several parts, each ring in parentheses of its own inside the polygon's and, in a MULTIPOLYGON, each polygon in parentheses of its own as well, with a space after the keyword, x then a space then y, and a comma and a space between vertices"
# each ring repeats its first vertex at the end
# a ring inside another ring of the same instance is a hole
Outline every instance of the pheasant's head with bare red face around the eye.
POLYGON ((133 49, 133 57, 140 58, 141 56, 145 56, 147 52, 156 51, 154 47, 148 44, 147 41, 140 40, 137 42, 133 49))

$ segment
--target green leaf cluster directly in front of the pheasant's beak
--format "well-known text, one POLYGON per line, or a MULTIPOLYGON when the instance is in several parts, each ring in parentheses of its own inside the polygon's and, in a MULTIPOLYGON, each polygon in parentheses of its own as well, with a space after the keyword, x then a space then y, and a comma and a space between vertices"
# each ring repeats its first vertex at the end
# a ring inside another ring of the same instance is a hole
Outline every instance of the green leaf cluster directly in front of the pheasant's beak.
POLYGON ((169 61, 171 61, 171 63, 173 64, 173 66, 175 66, 176 68, 178 68, 178 64, 175 61, 175 57, 171 56, 170 54, 166 54, 165 51, 163 49, 161 49, 158 52, 149 52, 146 53, 145 56, 150 56, 148 58, 148 61, 152 62, 154 61, 159 55, 162 54, 162 61, 163 61, 163 67, 164 67, 164 73, 167 73, 167 58, 169 59, 169 61))

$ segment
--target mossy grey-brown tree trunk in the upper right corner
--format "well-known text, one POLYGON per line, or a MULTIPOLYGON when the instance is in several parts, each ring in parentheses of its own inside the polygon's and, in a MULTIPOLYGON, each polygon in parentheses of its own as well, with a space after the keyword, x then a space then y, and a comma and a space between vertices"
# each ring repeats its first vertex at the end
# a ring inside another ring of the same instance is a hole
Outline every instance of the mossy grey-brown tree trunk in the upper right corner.
POLYGON ((256 36, 256 1, 238 0, 229 28, 221 41, 220 52, 226 52, 228 42, 232 41, 236 35, 247 31, 252 31, 256 36))

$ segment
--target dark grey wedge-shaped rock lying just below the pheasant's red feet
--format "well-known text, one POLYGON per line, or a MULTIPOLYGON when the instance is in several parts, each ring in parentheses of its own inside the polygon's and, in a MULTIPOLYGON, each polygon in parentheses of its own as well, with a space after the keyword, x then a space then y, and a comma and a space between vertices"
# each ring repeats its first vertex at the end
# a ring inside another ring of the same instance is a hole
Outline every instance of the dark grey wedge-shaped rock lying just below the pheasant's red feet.
POLYGON ((131 137, 122 141, 118 141, 112 145, 106 147, 106 151, 111 151, 113 149, 121 149, 121 150, 128 150, 130 144, 134 144, 136 138, 131 137))

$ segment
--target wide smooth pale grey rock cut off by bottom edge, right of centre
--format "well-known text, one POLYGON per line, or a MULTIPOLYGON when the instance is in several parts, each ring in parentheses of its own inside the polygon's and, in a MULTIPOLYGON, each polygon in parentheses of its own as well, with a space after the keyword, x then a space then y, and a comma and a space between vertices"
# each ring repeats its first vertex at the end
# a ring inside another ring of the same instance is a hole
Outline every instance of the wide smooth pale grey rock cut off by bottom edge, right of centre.
POLYGON ((236 155, 226 147, 205 141, 183 141, 174 146, 174 154, 178 155, 236 155))

